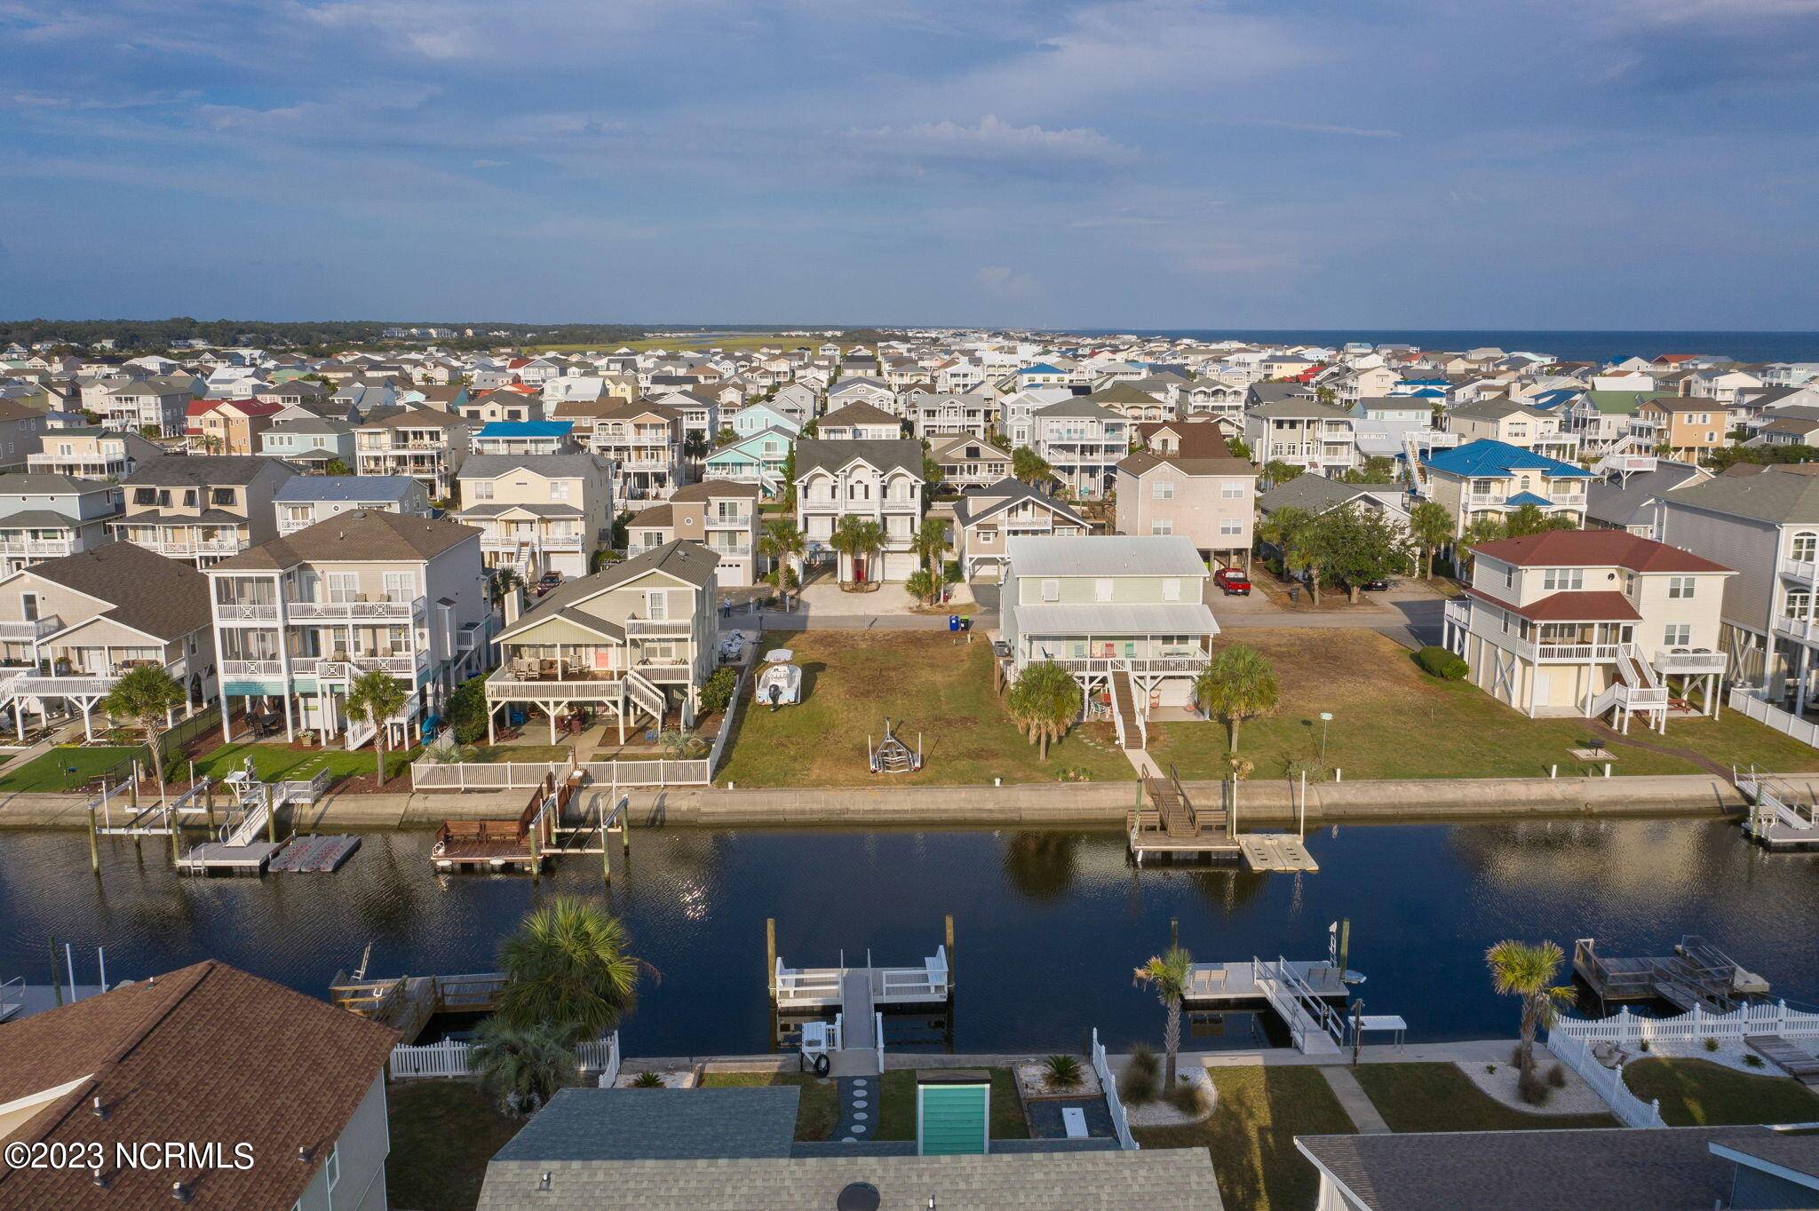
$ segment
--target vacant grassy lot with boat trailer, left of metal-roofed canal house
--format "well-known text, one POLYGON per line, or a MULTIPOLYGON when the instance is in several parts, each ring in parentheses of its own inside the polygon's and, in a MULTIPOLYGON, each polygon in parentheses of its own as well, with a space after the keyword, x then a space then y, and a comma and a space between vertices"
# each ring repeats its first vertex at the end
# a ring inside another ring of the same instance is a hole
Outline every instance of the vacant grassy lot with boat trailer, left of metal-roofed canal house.
MULTIPOLYGON (((891 784, 1053 782, 1068 771, 1095 782, 1135 778, 1106 724, 1075 727, 1048 762, 991 691, 991 647, 955 644, 946 631, 768 633, 759 651, 789 647, 802 666, 802 704, 771 711, 755 702, 717 778, 739 786, 875 786, 866 771, 886 716, 924 767, 891 784)), ((751 691, 748 691, 751 693, 751 691)))

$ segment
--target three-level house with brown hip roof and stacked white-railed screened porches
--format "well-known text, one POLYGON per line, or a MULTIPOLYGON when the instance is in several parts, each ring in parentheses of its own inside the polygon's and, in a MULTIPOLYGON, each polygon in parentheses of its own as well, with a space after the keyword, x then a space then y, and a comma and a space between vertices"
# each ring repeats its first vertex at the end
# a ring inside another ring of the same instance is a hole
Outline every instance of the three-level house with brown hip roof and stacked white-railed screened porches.
POLYGON ((446 518, 377 509, 342 513, 207 569, 222 660, 222 738, 231 698, 282 704, 286 740, 313 731, 373 738, 347 715, 347 687, 371 671, 407 693, 386 720, 409 746, 455 686, 486 667, 493 620, 480 531, 446 518))

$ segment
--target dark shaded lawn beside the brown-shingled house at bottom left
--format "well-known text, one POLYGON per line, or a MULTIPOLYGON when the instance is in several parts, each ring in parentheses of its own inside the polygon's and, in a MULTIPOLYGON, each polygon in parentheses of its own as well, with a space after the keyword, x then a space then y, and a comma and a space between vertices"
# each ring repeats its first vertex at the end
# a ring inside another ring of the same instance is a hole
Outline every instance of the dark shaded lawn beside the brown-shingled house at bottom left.
POLYGON ((386 1109, 386 1195, 413 1211, 473 1211, 486 1162, 524 1126, 471 1080, 400 1080, 386 1109))

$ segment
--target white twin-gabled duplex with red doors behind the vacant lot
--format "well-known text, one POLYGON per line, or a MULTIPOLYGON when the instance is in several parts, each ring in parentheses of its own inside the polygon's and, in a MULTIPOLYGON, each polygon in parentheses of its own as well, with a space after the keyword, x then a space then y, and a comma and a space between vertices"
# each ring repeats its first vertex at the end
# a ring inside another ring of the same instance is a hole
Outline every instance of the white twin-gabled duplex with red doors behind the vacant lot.
POLYGON ((922 444, 797 442, 797 525, 808 562, 837 564, 842 582, 904 580, 917 569, 915 531, 922 524, 922 444), (884 529, 884 545, 868 555, 837 553, 833 531, 857 516, 884 529))

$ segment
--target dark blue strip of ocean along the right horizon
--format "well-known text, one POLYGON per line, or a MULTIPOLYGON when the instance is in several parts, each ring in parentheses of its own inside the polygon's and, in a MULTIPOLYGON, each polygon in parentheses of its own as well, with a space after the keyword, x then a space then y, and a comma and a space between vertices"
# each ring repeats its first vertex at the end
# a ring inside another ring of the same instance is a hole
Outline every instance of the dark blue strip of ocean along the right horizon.
POLYGON ((1608 362, 1624 356, 1703 353, 1737 362, 1819 362, 1819 333, 1670 333, 1670 331, 1523 331, 1523 329, 1082 329, 1086 336, 1186 336, 1246 340, 1268 345, 1402 344, 1421 349, 1497 347, 1506 353, 1552 353, 1566 362, 1608 362))

